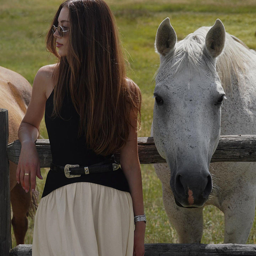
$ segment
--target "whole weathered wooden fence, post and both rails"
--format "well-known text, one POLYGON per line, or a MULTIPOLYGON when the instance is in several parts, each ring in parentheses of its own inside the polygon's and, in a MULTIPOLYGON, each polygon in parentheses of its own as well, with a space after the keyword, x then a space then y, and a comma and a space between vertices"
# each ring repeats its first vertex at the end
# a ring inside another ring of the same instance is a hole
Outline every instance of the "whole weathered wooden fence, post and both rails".
MULTIPOLYGON (((32 255, 31 244, 20 244, 11 251, 9 160, 18 163, 19 140, 7 146, 8 111, 0 109, 0 255, 32 255), (10 252, 10 253, 9 253, 10 252)), ((36 140, 41 167, 49 167, 52 161, 49 140, 36 140)), ((138 138, 141 164, 165 163, 159 156, 152 137, 138 138)), ((120 159, 116 152, 117 162, 120 159)), ((219 145, 211 162, 256 162, 256 135, 220 136, 219 145)), ((145 256, 201 256, 201 255, 255 255, 254 244, 145 244, 145 256)))

